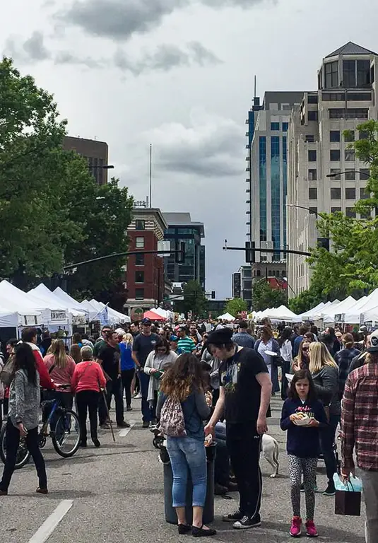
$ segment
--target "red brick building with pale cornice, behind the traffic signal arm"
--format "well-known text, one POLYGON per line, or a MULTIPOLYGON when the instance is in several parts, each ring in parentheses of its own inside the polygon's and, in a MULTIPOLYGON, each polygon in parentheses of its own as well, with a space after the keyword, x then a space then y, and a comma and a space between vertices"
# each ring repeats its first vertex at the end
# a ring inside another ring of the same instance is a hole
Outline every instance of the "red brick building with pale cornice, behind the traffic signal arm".
MULTIPOLYGON (((127 230, 129 250, 158 250, 164 240, 167 223, 160 209, 134 208, 127 230)), ((164 262, 158 255, 130 255, 127 260, 126 286, 129 291, 126 315, 138 320, 143 312, 157 306, 165 297, 164 262)))

